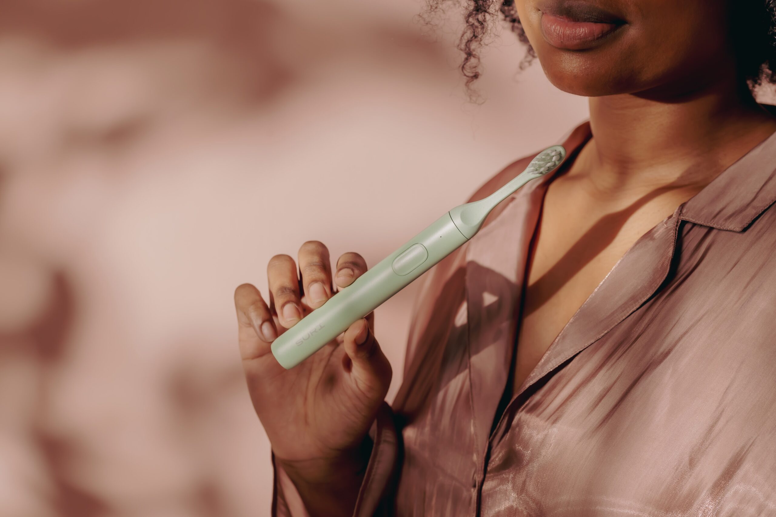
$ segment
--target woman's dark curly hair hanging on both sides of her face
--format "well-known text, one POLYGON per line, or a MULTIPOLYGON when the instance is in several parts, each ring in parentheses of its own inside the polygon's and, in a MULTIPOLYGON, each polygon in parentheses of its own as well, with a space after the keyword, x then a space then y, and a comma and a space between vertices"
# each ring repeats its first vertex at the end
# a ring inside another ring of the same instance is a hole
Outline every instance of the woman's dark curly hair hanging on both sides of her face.
MULTIPOLYGON (((426 12, 421 14, 421 18, 429 22, 428 16, 435 15, 448 1, 426 0, 426 12)), ((776 0, 734 0, 730 2, 730 7, 733 41, 739 56, 738 77, 746 81, 750 90, 763 82, 776 84, 776 0)), ((527 47, 519 69, 525 70, 536 57, 518 18, 514 0, 466 0, 466 29, 459 38, 458 49, 464 54, 460 70, 466 77, 469 98, 478 96, 471 88, 471 84, 480 77, 477 50, 483 45, 483 39, 491 28, 490 22, 497 12, 501 12, 501 19, 527 47)))

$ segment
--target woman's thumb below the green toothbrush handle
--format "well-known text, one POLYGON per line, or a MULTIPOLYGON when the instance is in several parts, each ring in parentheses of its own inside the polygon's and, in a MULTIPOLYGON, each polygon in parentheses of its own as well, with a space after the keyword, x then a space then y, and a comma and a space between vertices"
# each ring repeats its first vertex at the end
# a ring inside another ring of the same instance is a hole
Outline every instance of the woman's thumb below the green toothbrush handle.
POLYGON ((369 398, 385 398, 393 370, 366 319, 359 319, 345 330, 342 345, 350 360, 350 375, 355 387, 369 398))

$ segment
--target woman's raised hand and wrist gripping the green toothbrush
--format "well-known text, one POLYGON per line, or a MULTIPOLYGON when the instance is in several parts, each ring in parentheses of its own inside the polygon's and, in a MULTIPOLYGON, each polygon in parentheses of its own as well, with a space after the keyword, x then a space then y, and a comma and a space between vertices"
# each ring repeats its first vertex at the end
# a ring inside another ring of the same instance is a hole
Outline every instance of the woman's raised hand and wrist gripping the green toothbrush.
MULTIPOLYGON (((373 313, 298 366, 290 370, 280 366, 270 348, 275 339, 272 333, 282 335, 300 316, 334 294, 329 253, 323 243, 303 243, 298 267, 301 293, 297 262, 288 255, 269 260, 270 304, 251 284, 242 284, 235 291, 242 363, 272 451, 310 515, 351 515, 371 450, 367 433, 386 396, 392 371, 372 333, 373 313), (323 289, 311 287, 317 281, 323 289), (311 302, 308 298, 317 299, 311 302), (296 317, 294 307, 301 309, 296 317), (270 334, 265 336, 262 329, 269 329, 270 334)), ((334 284, 346 287, 365 271, 361 255, 345 253, 337 262, 334 284)))

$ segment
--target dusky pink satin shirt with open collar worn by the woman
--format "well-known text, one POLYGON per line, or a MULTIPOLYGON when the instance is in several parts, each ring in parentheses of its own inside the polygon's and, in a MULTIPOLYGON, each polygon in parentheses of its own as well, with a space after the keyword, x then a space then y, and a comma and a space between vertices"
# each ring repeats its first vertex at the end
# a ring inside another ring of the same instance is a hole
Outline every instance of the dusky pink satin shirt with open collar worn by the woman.
MULTIPOLYGON (((776 133, 640 237, 500 406, 546 187, 590 137, 418 280, 354 516, 776 515, 776 133)), ((307 515, 272 464, 272 515, 307 515)))

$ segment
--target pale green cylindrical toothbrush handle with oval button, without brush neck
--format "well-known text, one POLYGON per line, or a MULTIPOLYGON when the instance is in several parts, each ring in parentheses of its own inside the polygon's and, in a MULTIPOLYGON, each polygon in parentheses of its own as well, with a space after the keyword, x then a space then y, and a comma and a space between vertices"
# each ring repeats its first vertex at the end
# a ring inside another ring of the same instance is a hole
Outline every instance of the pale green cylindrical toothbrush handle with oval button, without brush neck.
POLYGON ((272 342, 275 359, 286 369, 300 364, 466 240, 452 221, 450 212, 445 212, 404 246, 275 339, 272 342))

